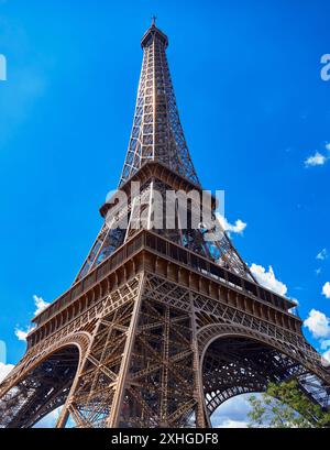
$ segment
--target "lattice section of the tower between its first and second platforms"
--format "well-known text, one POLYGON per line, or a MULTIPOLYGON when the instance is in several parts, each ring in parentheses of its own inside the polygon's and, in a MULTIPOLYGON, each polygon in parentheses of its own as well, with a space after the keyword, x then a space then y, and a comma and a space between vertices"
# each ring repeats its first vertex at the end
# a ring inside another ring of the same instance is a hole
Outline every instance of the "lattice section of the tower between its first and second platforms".
POLYGON ((212 220, 211 228, 205 227, 201 201, 188 199, 187 208, 183 208, 185 205, 176 200, 174 207, 167 207, 166 194, 169 190, 173 190, 169 185, 153 179, 142 185, 140 195, 129 198, 129 204, 124 208, 112 207, 75 282, 142 229, 153 230, 222 267, 255 282, 215 212, 210 211, 209 215, 212 220), (197 228, 196 224, 200 227, 197 228), (210 232, 215 233, 215 240, 206 239, 210 232))

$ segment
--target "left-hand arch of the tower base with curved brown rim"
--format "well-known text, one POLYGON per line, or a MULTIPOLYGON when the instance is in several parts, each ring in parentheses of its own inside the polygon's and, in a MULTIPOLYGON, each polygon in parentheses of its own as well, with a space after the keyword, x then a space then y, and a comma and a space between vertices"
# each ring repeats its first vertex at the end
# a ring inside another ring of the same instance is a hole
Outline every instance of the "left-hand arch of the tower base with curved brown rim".
POLYGON ((1 389, 0 413, 6 428, 30 428, 63 406, 75 384, 90 337, 68 336, 24 359, 9 373, 1 389))

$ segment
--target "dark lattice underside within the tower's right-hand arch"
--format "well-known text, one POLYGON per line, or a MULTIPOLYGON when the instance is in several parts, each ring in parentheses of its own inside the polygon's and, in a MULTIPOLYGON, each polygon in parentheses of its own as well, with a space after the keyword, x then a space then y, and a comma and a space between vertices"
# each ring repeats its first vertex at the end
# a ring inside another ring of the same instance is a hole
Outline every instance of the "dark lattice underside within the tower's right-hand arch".
POLYGON ((264 392, 268 383, 295 377, 314 402, 328 408, 330 392, 298 359, 264 339, 228 333, 227 327, 205 347, 202 381, 206 413, 210 417, 226 400, 240 394, 264 392), (227 331, 227 332, 226 332, 227 331))

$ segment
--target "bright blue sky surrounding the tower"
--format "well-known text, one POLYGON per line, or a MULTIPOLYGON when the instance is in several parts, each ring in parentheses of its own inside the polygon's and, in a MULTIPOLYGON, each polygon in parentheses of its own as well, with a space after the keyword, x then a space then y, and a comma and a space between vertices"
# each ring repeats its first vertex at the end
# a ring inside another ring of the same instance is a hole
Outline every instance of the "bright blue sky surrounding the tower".
POLYGON ((0 0, 8 62, 0 81, 0 339, 8 362, 24 352, 14 331, 29 325, 33 295, 52 301, 72 284, 101 226, 98 208, 122 168, 140 39, 153 14, 169 37, 200 180, 226 190, 230 223, 246 223, 232 233, 244 260, 278 287, 273 267, 301 318, 323 315, 307 322, 314 334, 304 331, 326 351, 330 81, 320 77, 320 58, 330 53, 330 3, 0 0))

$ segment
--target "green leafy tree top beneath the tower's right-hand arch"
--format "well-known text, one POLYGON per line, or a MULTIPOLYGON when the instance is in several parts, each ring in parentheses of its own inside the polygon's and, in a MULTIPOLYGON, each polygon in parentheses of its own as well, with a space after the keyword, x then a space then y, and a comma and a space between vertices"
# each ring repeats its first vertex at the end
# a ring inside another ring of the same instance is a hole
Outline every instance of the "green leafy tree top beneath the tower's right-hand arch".
POLYGON ((330 426, 330 413, 314 403, 298 387, 296 380, 270 383, 261 397, 249 398, 250 428, 324 428, 330 426))

